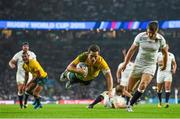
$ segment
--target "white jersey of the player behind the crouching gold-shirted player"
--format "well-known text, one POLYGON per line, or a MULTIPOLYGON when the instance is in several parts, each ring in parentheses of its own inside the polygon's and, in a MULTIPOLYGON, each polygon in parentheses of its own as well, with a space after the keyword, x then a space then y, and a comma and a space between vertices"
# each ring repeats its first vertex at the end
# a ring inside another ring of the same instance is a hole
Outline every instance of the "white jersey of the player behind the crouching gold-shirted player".
MULTIPOLYGON (((23 59, 22 59, 22 54, 23 54, 23 51, 19 51, 17 52, 14 57, 12 58, 13 60, 17 61, 17 71, 24 71, 23 69, 23 59)), ((36 55, 34 54, 34 52, 31 52, 31 51, 28 51, 28 54, 30 56, 30 59, 36 59, 36 55)))

